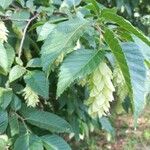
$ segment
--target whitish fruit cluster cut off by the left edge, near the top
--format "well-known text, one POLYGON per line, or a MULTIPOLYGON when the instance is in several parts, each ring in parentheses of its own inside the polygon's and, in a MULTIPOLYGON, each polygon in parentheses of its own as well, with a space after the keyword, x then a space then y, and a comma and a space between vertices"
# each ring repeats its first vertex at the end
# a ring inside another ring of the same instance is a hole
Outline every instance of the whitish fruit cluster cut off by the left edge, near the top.
POLYGON ((3 21, 0 21, 0 42, 7 42, 8 30, 3 21))

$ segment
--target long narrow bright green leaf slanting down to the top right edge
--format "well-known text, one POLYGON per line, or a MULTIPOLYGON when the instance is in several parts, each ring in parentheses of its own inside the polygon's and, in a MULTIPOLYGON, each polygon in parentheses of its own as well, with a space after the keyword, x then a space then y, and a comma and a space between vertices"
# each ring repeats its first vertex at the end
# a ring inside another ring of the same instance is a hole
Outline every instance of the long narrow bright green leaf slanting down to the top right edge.
POLYGON ((120 27, 136 35, 143 42, 147 43, 150 46, 149 38, 147 38, 141 31, 135 28, 129 21, 125 20, 121 16, 118 16, 117 14, 112 13, 110 9, 103 9, 101 11, 101 17, 104 17, 107 20, 117 23, 118 25, 120 25, 120 27))

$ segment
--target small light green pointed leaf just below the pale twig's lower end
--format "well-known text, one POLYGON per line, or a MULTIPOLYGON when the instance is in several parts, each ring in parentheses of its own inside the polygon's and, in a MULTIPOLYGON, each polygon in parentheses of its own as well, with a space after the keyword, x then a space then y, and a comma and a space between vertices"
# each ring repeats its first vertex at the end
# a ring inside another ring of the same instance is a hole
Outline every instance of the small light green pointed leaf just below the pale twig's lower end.
POLYGON ((16 65, 14 66, 9 73, 9 82, 13 82, 20 77, 22 77, 26 72, 26 69, 22 66, 16 65))

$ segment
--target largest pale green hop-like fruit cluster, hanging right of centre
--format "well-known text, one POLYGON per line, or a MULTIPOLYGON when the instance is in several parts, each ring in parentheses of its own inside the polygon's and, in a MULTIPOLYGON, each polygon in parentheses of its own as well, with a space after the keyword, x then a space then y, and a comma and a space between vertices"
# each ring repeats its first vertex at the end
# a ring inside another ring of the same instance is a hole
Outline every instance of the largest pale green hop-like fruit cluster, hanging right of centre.
POLYGON ((89 80, 90 97, 87 101, 88 112, 93 118, 109 114, 110 103, 114 100, 115 88, 112 72, 105 62, 93 72, 89 80))

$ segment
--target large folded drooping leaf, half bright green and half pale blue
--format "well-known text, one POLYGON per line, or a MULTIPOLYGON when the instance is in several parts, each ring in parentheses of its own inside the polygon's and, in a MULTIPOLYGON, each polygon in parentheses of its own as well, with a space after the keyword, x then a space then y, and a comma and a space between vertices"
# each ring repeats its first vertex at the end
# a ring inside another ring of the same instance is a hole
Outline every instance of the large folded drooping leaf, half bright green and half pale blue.
POLYGON ((111 30, 107 29, 104 37, 119 64, 129 88, 129 93, 133 100, 134 119, 136 121, 145 104, 146 68, 144 57, 139 47, 132 42, 121 46, 121 43, 111 30))

